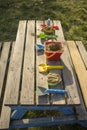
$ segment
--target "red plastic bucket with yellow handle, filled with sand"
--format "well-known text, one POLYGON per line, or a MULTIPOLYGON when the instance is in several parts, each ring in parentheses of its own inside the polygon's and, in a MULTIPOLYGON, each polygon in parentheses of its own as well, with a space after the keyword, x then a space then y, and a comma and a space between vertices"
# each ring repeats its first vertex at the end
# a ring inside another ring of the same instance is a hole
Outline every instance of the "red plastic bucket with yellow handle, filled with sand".
POLYGON ((60 59, 60 56, 64 51, 64 47, 63 47, 62 42, 53 42, 53 41, 49 42, 49 41, 46 41, 44 43, 44 45, 45 45, 45 54, 46 54, 47 60, 57 61, 57 60, 60 59), (47 44, 52 44, 52 43, 53 44, 59 44, 61 46, 61 50, 58 50, 58 51, 48 51, 48 50, 46 50, 46 45, 47 44))

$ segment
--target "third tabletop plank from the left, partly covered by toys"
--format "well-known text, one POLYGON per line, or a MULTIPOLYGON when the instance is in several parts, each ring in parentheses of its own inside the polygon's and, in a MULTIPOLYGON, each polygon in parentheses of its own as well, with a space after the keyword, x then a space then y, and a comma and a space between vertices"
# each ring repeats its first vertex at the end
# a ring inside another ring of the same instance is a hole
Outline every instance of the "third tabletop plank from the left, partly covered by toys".
MULTIPOLYGON (((41 24, 42 21, 36 22, 36 34, 39 35, 41 33, 41 24)), ((36 43, 42 44, 42 41, 40 38, 36 39, 36 43)), ((40 88, 43 87, 45 89, 48 88, 47 84, 47 73, 39 73, 38 65, 41 63, 46 63, 46 57, 44 56, 43 52, 36 51, 36 102, 38 105, 45 105, 49 104, 49 97, 48 95, 45 96, 39 96, 40 88)))

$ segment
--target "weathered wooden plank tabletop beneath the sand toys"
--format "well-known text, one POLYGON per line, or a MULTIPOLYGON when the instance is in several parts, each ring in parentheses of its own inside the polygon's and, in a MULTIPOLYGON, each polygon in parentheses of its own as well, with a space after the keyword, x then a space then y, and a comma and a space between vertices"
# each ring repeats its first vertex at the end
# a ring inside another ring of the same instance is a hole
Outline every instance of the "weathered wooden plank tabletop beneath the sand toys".
MULTIPOLYGON (((63 70, 54 70, 61 73, 61 87, 68 90, 68 97, 64 95, 51 95, 52 104, 80 104, 72 63, 65 43, 60 22, 54 21, 59 26, 56 31, 57 40, 64 42, 64 53, 61 61, 50 62, 49 64, 64 66, 63 70)), ((14 46, 12 60, 9 66, 7 79, 7 92, 5 104, 7 105, 48 105, 50 104, 49 95, 38 96, 38 87, 48 88, 47 73, 42 74, 38 71, 38 65, 46 63, 46 57, 38 54, 35 49, 35 43, 41 43, 41 38, 32 36, 35 34, 35 22, 28 21, 26 30, 26 21, 20 22, 17 33, 17 39, 14 46)), ((36 35, 41 33, 41 21, 36 22, 36 35)))

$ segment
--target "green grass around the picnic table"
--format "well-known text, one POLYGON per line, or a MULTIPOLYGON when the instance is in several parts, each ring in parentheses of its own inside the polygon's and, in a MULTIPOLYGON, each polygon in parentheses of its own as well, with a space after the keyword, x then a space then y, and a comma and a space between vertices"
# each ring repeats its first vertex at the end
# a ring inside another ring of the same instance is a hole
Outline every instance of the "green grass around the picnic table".
MULTIPOLYGON (((59 19, 65 39, 81 40, 87 49, 87 0, 0 0, 0 41, 15 41, 19 20, 48 18, 59 19)), ((28 130, 54 129, 86 130, 79 125, 38 127, 28 130)))

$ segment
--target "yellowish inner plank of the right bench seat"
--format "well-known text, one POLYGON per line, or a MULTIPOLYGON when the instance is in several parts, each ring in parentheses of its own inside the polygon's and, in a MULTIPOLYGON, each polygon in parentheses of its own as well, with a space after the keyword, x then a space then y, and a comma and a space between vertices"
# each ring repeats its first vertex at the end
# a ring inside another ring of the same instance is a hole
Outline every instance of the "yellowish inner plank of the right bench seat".
POLYGON ((67 41, 72 62, 80 83, 83 99, 87 108, 87 71, 74 41, 67 41))

